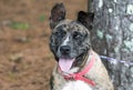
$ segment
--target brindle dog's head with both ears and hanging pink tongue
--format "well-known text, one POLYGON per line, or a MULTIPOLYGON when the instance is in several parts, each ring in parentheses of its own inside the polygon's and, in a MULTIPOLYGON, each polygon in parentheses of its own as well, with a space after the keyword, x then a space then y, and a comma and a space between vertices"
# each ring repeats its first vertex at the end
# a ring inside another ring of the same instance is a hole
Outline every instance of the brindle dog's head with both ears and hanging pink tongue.
POLYGON ((63 71, 83 62, 83 57, 91 49, 90 30, 94 14, 80 11, 76 20, 65 19, 65 9, 58 3, 51 10, 50 49, 63 71))

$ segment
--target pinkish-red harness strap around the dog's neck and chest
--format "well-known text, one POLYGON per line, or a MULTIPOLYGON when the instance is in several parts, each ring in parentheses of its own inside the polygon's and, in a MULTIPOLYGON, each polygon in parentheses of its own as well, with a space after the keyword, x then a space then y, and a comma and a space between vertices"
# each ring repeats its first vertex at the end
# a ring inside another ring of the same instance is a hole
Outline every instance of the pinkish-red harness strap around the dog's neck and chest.
POLYGON ((94 81, 92 81, 89 78, 84 77, 84 74, 86 74, 91 70, 91 68, 93 67, 94 62, 95 62, 94 53, 91 53, 90 62, 89 62, 89 64, 82 71, 76 72, 76 73, 71 73, 71 74, 68 74, 68 76, 65 76, 65 74, 63 74, 61 72, 61 74, 63 76, 63 78, 65 80, 81 80, 81 81, 84 81, 84 82, 86 82, 86 83, 89 83, 91 86, 95 86, 94 81))

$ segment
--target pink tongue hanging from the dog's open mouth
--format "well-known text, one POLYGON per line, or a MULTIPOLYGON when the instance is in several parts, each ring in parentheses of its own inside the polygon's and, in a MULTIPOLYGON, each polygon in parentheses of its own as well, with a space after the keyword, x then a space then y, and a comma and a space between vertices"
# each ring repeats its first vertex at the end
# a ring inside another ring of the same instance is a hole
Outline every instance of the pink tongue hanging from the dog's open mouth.
POLYGON ((59 59, 59 66, 63 72, 68 72, 72 63, 74 62, 74 59, 59 59))

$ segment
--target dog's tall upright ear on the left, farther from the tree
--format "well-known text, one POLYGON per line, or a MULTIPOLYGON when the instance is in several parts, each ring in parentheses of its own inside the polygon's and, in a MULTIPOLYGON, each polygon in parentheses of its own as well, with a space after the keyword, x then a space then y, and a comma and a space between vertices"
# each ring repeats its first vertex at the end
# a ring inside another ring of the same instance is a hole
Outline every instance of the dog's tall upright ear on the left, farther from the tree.
POLYGON ((54 29, 54 27, 61 21, 65 19, 65 8, 63 3, 57 3, 52 10, 50 16, 50 28, 54 29))

